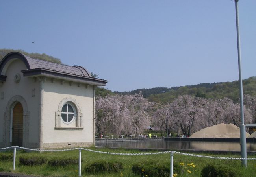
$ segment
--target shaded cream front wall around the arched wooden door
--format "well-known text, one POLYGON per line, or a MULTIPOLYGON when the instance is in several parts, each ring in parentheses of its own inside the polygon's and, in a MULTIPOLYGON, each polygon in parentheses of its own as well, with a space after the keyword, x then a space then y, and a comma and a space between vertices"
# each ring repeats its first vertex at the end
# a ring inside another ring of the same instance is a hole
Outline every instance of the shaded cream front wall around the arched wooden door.
MULTIPOLYGON (((23 77, 21 70, 26 70, 26 66, 20 59, 14 60, 7 68, 6 82, 0 86, 0 93, 4 92, 4 99, 0 99, 0 142, 3 141, 5 135, 4 128, 4 112, 9 100, 13 96, 22 96, 27 103, 29 111, 29 120, 23 126, 28 126, 29 131, 26 137, 23 137, 30 143, 38 143, 38 110, 39 110, 39 85, 34 82, 33 78, 23 77), (16 83, 14 80, 15 74, 19 73, 21 76, 20 82, 16 83), (32 89, 35 89, 35 96, 32 96, 32 89)), ((25 111, 25 110, 24 110, 25 111)), ((7 127, 9 128, 9 127, 7 127)))

